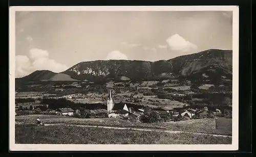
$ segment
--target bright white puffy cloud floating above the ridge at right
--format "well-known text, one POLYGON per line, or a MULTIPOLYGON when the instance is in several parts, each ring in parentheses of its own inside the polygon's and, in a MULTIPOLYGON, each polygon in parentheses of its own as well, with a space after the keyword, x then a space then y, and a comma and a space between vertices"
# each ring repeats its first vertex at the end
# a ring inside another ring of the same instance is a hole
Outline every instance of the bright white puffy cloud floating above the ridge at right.
POLYGON ((180 35, 175 34, 170 36, 166 40, 170 50, 173 51, 181 51, 181 52, 188 52, 190 50, 197 49, 197 45, 186 41, 184 38, 182 38, 180 35))

